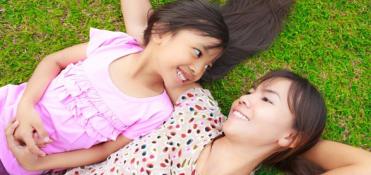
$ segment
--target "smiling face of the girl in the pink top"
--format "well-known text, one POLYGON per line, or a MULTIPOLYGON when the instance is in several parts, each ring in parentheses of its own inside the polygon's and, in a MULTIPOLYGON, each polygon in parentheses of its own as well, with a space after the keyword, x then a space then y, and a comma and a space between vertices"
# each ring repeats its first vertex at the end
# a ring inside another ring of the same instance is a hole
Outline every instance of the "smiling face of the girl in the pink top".
POLYGON ((155 36, 157 70, 167 88, 193 83, 221 54, 221 48, 209 48, 220 41, 201 32, 181 30, 176 34, 155 36))

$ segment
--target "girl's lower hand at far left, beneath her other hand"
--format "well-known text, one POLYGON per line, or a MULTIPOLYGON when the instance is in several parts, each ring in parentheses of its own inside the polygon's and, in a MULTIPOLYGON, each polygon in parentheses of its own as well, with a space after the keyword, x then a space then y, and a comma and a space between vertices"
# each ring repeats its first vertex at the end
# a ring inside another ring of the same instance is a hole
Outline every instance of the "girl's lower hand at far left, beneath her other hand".
POLYGON ((24 169, 29 171, 37 170, 37 162, 39 162, 40 157, 32 154, 26 146, 22 146, 20 142, 14 138, 14 131, 18 126, 18 121, 12 121, 5 129, 8 148, 24 169))

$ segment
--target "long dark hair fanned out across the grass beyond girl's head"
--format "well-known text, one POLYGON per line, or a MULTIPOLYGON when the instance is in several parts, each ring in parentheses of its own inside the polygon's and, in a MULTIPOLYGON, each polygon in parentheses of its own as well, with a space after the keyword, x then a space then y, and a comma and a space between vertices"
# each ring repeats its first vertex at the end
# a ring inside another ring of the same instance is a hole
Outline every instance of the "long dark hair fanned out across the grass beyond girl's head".
POLYGON ((222 78, 234 66, 267 49, 280 33, 294 0, 228 0, 222 7, 229 45, 202 81, 222 78))

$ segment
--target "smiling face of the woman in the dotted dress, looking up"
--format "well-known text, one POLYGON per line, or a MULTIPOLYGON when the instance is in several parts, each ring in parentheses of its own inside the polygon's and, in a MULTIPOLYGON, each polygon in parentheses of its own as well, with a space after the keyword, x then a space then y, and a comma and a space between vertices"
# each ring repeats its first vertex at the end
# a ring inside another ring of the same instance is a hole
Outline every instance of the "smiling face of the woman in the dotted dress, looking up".
POLYGON ((223 125, 225 135, 242 144, 290 146, 295 135, 290 85, 284 78, 267 80, 235 100, 223 125))

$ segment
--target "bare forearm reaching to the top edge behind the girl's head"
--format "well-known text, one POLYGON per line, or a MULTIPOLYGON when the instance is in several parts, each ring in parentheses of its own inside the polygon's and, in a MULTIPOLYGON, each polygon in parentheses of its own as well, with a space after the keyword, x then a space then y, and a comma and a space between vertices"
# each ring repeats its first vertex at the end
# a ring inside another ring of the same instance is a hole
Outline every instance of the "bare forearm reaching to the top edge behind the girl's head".
POLYGON ((143 32, 147 27, 147 17, 151 13, 149 0, 121 0, 126 33, 143 44, 143 32))

